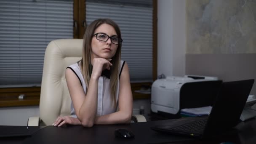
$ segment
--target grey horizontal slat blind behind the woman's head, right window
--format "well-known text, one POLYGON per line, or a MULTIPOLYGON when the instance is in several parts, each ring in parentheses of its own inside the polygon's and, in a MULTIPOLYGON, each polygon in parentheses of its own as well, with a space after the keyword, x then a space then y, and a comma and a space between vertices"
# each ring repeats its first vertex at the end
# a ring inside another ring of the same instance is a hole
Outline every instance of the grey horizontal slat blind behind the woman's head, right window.
POLYGON ((152 81, 152 1, 115 0, 119 3, 86 3, 86 22, 99 18, 114 20, 122 33, 122 56, 130 70, 131 82, 152 81), (132 3, 134 2, 134 3, 132 3), (123 4, 120 4, 123 3, 123 4), (145 6, 143 5, 145 3, 145 6))

